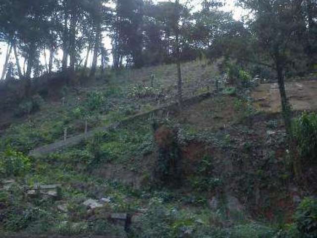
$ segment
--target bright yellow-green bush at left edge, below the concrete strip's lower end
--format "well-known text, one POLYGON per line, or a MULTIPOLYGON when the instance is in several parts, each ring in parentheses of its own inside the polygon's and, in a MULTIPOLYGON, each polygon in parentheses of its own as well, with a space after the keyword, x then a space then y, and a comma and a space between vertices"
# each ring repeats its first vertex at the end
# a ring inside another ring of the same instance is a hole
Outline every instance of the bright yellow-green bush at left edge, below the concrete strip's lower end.
POLYGON ((0 153, 0 175, 22 176, 31 169, 31 161, 21 152, 7 149, 0 153))

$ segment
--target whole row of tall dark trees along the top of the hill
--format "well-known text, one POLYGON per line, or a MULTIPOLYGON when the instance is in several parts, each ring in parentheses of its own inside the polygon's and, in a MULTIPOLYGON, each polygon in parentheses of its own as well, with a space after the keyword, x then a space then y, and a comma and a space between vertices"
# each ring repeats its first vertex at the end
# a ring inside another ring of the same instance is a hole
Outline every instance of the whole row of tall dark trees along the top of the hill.
POLYGON ((316 67, 317 0, 237 3, 250 13, 244 22, 222 11, 222 0, 1 0, 0 41, 7 45, 1 79, 19 78, 28 92, 32 77, 72 74, 89 58, 94 76, 112 57, 114 69, 177 62, 181 89, 181 61, 225 57, 276 72, 286 112, 285 73, 316 67))

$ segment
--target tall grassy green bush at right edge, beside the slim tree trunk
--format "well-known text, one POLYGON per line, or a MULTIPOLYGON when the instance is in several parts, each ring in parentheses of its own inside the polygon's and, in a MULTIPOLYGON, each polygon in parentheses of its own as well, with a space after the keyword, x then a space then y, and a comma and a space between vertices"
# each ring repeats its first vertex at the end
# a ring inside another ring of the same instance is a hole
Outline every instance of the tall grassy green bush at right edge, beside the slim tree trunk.
POLYGON ((293 122, 293 135, 302 159, 317 162, 317 114, 304 112, 293 122))

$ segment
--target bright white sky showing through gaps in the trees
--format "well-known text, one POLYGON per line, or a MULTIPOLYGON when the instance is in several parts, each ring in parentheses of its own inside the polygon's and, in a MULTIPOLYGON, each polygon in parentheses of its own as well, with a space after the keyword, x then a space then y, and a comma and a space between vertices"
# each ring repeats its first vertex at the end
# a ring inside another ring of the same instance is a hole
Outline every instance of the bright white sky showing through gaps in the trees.
MULTIPOLYGON (((168 0, 153 0, 154 2, 158 1, 168 1, 168 0)), ((188 0, 180 0, 181 3, 187 2, 188 0)), ((191 5, 197 5, 201 0, 191 0, 190 4, 191 5)), ((223 0, 225 2, 225 6, 222 8, 224 11, 230 11, 233 14, 233 18, 236 20, 240 20, 241 17, 244 15, 244 10, 240 7, 235 6, 235 0, 223 0)), ((104 40, 104 44, 106 45, 106 49, 108 49, 108 45, 110 45, 109 39, 104 40)), ((6 55, 6 50, 7 50, 7 45, 0 43, 0 75, 2 73, 3 69, 3 63, 6 55)), ((13 56, 13 51, 11 53, 11 60, 15 62, 14 56, 13 56)), ((49 53, 47 53, 49 56, 49 53)), ((86 54, 83 54, 86 55, 86 54)), ((57 56, 58 58, 62 57, 61 52, 59 51, 59 55, 57 56)), ((44 60, 43 60, 44 61, 44 60)), ((91 60, 90 60, 91 61, 91 60)), ((20 63, 22 66, 22 62, 20 63)))

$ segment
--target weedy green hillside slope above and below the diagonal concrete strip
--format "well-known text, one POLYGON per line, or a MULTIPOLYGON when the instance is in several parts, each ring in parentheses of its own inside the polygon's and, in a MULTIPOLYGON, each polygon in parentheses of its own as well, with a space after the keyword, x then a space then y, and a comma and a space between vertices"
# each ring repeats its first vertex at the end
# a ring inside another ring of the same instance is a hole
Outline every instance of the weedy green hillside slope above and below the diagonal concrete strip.
MULTIPOLYGON (((64 105, 47 101, 5 128, 0 148, 15 170, 0 172, 2 237, 291 233, 299 202, 317 192, 317 169, 310 168, 309 186, 294 182, 281 116, 257 111, 250 89, 225 88, 182 111, 135 119, 39 158, 15 152, 59 140, 65 127, 68 136, 82 133, 86 120, 92 129, 175 101, 174 66, 65 89, 64 105)), ((183 68, 185 97, 213 90, 215 65, 183 68)))

